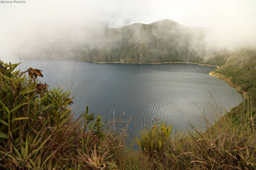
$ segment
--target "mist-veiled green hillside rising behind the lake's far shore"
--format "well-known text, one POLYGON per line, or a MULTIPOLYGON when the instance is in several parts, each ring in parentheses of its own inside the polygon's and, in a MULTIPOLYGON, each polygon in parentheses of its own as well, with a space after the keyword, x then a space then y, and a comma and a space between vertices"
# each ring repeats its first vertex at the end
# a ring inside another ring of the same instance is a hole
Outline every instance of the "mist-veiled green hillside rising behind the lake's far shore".
POLYGON ((121 28, 108 28, 103 23, 97 25, 94 29, 85 28, 75 42, 65 36, 61 42, 58 39, 46 42, 40 50, 21 53, 21 56, 88 62, 195 62, 222 66, 233 55, 227 49, 214 50, 207 46, 205 38, 210 29, 187 27, 170 19, 121 28), (85 34, 86 30, 89 34, 85 34))

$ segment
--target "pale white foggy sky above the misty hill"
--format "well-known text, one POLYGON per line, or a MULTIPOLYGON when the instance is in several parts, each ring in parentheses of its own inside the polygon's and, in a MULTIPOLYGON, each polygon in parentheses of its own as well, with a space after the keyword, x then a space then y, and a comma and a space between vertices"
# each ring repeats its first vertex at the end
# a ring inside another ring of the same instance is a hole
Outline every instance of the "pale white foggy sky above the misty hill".
MULTIPOLYGON (((104 21, 117 28, 171 19, 214 30, 206 40, 217 48, 256 45, 256 0, 23 0, 0 3, 0 59, 36 48, 41 39, 81 36, 104 21)), ((16 56, 17 57, 17 56, 16 56)))

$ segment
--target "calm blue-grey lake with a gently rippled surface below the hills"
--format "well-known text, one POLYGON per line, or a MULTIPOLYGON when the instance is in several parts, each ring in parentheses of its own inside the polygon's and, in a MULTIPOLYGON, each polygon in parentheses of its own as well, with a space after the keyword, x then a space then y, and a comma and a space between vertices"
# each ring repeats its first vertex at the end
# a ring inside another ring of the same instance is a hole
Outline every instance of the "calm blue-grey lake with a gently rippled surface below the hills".
MULTIPOLYGON (((101 115, 103 120, 131 118, 127 132, 131 138, 156 117, 174 125, 177 132, 187 132, 189 123, 202 126, 202 112, 213 115, 229 111, 242 102, 242 95, 225 81, 209 75, 215 67, 196 64, 97 64, 72 60, 23 60, 21 70, 43 70, 42 83, 50 88, 72 85, 75 117, 85 112, 101 115), (72 81, 74 79, 74 81, 72 81), (73 82, 73 83, 72 83, 73 82), (214 102, 215 101, 215 102, 214 102), (116 118, 116 119, 117 119, 116 118)), ((124 128, 124 123, 117 128, 124 128)))

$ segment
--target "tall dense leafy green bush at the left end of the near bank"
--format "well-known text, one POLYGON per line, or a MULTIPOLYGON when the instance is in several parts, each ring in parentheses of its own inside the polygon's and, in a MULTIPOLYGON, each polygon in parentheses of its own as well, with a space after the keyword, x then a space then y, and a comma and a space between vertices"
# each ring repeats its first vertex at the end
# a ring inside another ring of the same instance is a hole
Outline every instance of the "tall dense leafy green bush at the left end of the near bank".
POLYGON ((15 70, 18 65, 0 61, 0 166, 55 166, 53 162, 70 148, 73 129, 79 126, 71 123, 70 93, 59 88, 49 90, 48 85, 37 81, 41 70, 20 72, 15 70), (67 125, 69 129, 63 128, 67 125))

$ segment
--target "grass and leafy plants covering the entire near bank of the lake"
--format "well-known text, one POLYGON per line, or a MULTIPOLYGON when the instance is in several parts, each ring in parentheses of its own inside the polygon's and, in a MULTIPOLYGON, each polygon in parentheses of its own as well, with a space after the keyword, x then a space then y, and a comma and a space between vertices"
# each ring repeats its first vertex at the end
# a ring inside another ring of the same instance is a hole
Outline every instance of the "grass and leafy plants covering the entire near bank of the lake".
POLYGON ((140 150, 125 146, 123 132, 102 125, 88 107, 72 118, 70 93, 41 84, 41 70, 15 70, 0 62, 0 169, 35 170, 255 170, 254 96, 207 130, 170 136, 158 119, 141 132, 140 150))

